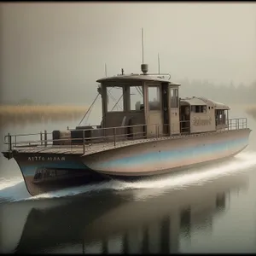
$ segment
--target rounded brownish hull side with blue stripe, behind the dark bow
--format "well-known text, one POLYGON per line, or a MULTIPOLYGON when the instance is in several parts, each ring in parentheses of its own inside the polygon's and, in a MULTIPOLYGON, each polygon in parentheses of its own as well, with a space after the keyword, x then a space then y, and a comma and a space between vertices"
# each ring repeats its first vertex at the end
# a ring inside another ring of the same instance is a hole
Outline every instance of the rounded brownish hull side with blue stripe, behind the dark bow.
POLYGON ((90 169, 108 176, 152 176, 238 154, 247 147, 250 131, 242 129, 166 137, 91 154, 83 160, 90 169))

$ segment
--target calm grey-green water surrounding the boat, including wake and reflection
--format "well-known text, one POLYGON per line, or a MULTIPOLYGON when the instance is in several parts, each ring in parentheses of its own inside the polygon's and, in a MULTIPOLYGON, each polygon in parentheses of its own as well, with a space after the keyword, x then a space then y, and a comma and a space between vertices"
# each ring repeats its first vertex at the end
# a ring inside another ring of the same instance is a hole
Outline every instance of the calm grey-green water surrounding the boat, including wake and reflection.
MULTIPOLYGON (((247 117, 235 109, 231 118, 238 116, 247 117)), ((256 253, 256 121, 248 121, 250 145, 231 160, 36 197, 1 154, 0 253, 256 253)), ((1 139, 44 127, 4 127, 1 139)))

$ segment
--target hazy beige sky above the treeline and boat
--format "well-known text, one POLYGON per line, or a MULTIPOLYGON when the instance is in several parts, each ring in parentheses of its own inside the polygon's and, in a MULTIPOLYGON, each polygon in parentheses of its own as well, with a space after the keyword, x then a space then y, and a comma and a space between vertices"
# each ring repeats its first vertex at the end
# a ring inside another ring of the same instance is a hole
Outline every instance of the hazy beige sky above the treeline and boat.
POLYGON ((91 101, 105 62, 140 71, 142 27, 150 72, 159 52, 174 80, 255 80, 255 3, 1 3, 0 15, 1 102, 91 101))

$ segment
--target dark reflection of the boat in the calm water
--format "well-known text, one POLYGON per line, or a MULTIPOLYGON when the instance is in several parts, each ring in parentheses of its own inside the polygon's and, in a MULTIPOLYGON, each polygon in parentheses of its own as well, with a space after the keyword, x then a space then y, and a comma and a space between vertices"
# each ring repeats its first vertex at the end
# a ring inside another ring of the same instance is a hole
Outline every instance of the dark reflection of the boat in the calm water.
MULTIPOLYGON (((22 222, 24 209, 20 238, 9 252, 177 253, 180 236, 190 240, 195 230, 206 230, 220 212, 227 210, 230 190, 244 186, 246 176, 237 174, 143 197, 143 201, 134 201, 140 191, 102 191, 73 198, 5 203, 3 211, 11 208, 13 214, 4 219, 2 237, 7 239, 8 230, 15 232, 11 225, 15 220, 22 222)), ((3 252, 8 252, 7 243, 0 244, 3 252)))

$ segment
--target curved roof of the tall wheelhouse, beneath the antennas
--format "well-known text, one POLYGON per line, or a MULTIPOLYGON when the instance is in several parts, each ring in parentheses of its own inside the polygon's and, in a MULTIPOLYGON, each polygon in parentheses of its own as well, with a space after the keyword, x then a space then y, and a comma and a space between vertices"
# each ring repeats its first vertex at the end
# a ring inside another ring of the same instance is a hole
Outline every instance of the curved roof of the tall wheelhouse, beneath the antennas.
POLYGON ((149 82, 161 82, 168 83, 171 85, 180 86, 180 84, 172 83, 169 79, 164 78, 163 76, 153 76, 153 75, 143 75, 143 74, 130 74, 130 75, 118 75, 103 79, 96 80, 97 83, 102 82, 120 82, 120 81, 149 81, 149 82))

